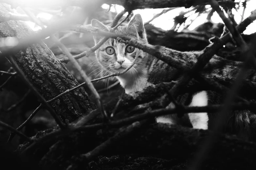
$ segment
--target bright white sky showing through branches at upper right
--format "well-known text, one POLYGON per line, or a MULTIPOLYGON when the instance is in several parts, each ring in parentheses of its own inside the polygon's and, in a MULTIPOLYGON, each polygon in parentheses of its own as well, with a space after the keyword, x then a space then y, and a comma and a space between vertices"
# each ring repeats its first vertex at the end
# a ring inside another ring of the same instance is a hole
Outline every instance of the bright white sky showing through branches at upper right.
MULTIPOLYGON (((235 2, 239 2, 240 0, 235 0, 235 2)), ((241 2, 243 2, 244 0, 242 0, 241 2)), ((209 6, 206 6, 206 8, 210 7, 209 6)), ((102 6, 102 8, 108 8, 108 5, 104 4, 102 6)), ((116 9, 117 9, 117 12, 120 12, 121 10, 123 10, 124 8, 121 7, 121 6, 116 6, 116 9)), ((155 25, 156 27, 160 27, 164 30, 169 30, 174 22, 173 22, 173 18, 179 14, 179 12, 181 11, 189 11, 191 10, 192 8, 177 8, 177 9, 173 9, 173 10, 170 10, 168 11, 167 13, 161 15, 160 17, 156 18, 155 20, 153 20, 151 23, 153 25, 155 25)), ((244 18, 247 18, 249 15, 250 15, 250 12, 252 10, 256 9, 256 0, 250 0, 247 2, 247 6, 246 6, 246 10, 245 10, 245 14, 244 14, 244 18)), ((113 7, 111 7, 110 9, 111 11, 115 11, 115 9, 113 7)), ((143 22, 147 22, 149 21, 153 16, 154 14, 157 14, 157 13, 160 13, 163 9, 137 9, 134 11, 134 14, 137 14, 139 13, 143 19, 143 22)), ((232 13, 235 15, 235 21, 237 23, 239 23, 242 19, 241 15, 243 13, 243 7, 240 7, 238 9, 238 13, 235 9, 232 9, 232 13)), ((194 19, 196 18, 198 15, 198 13, 195 14, 194 11, 188 13, 185 15, 185 17, 187 16, 190 16, 188 19, 194 19)), ((197 27, 198 25, 204 23, 206 21, 206 17, 207 17, 207 14, 202 14, 201 16, 197 17, 196 20, 188 27, 189 30, 193 30, 195 27, 197 27)), ((220 17, 218 16, 218 14, 215 12, 214 15, 212 16, 212 21, 215 22, 215 23, 223 23, 222 20, 220 19, 220 17)), ((255 30, 255 27, 256 27, 256 22, 253 22, 251 23, 247 29, 244 31, 244 34, 251 34, 251 33, 254 33, 256 32, 255 30)), ((180 30, 183 29, 183 25, 180 27, 180 30)))

